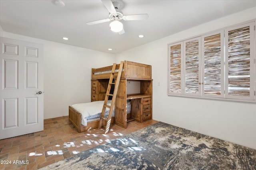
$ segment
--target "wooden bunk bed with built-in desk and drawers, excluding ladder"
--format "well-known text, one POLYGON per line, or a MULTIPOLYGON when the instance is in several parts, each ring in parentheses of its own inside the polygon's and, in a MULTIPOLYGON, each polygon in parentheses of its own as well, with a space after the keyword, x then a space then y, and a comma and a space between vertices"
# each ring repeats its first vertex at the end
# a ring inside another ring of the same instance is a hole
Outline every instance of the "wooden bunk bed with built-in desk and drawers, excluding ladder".
MULTIPOLYGON (((120 69, 119 64, 117 64, 116 69, 120 69)), ((112 66, 92 68, 92 102, 104 100, 111 70, 112 66)), ((114 78, 116 78, 116 76, 117 73, 114 74, 114 78)), ((116 123, 117 125, 126 128, 128 121, 136 120, 143 122, 149 119, 152 119, 151 65, 124 61, 116 96, 115 116, 112 117, 111 123, 116 123), (127 82, 130 81, 139 82, 140 93, 127 94, 127 82), (126 111, 127 100, 131 101, 130 113, 127 113, 126 111)), ((81 114, 71 106, 69 106, 69 121, 74 125, 78 132, 97 128, 99 122, 99 120, 97 120, 88 122, 87 126, 82 125, 81 114)))

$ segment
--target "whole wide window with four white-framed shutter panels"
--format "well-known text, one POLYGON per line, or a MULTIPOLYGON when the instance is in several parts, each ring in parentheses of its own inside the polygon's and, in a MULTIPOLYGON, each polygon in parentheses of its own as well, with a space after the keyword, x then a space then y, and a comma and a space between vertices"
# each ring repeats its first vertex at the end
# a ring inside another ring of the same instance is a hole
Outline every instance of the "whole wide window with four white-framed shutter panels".
POLYGON ((255 102, 254 22, 168 45, 168 95, 255 102))

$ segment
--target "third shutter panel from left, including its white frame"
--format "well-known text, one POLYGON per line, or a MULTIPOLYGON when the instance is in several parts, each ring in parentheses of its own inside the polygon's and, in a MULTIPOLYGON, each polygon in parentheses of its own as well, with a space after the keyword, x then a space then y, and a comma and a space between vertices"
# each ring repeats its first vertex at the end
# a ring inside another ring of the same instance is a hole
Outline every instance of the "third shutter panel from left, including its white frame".
POLYGON ((202 92, 204 96, 224 96, 224 31, 202 37, 202 92))

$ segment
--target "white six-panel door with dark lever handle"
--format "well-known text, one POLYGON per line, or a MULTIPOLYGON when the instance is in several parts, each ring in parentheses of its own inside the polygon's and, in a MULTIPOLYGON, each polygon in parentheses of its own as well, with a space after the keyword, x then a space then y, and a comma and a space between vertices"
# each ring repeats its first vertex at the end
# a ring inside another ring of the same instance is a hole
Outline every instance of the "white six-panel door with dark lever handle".
POLYGON ((43 48, 0 37, 0 139, 44 130, 43 48))

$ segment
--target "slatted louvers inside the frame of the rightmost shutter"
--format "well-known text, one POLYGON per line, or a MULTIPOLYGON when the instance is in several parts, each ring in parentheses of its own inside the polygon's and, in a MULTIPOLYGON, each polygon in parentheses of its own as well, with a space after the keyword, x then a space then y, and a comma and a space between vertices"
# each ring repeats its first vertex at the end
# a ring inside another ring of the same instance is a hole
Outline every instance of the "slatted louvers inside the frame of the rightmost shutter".
POLYGON ((228 31, 228 94, 250 96, 250 27, 228 31))

